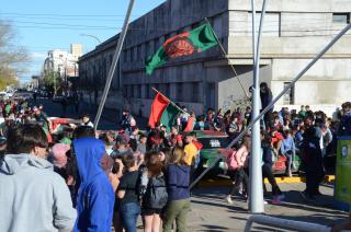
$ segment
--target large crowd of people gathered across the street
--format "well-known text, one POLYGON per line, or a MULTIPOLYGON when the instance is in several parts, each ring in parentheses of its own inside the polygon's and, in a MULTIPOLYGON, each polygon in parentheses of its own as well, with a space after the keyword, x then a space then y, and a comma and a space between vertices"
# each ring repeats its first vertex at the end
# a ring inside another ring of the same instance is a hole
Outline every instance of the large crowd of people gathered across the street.
MULTIPOLYGON (((269 88, 261 85, 263 108, 271 98, 269 88)), ((251 120, 250 107, 208 109, 197 117, 182 107, 170 129, 156 124, 141 131, 124 111, 120 131, 95 131, 89 115, 58 130, 43 106, 13 101, 0 108, 0 231, 111 231, 113 224, 115 231, 133 232, 139 216, 144 231, 171 231, 174 221, 177 231, 186 231, 190 183, 202 149, 194 130, 222 131, 234 139, 251 120), (5 213, 8 209, 12 213, 5 213)), ((307 179, 304 196, 314 200, 320 195, 324 160, 336 152, 336 137, 351 134, 351 103, 333 119, 309 106, 299 112, 271 109, 261 127, 262 175, 272 185, 273 201, 284 198, 274 162, 284 156, 291 176, 296 155, 307 179)), ((249 131, 224 161, 234 181, 226 196, 229 204, 235 194, 250 197, 250 150, 249 131)))

